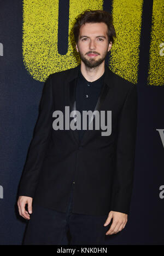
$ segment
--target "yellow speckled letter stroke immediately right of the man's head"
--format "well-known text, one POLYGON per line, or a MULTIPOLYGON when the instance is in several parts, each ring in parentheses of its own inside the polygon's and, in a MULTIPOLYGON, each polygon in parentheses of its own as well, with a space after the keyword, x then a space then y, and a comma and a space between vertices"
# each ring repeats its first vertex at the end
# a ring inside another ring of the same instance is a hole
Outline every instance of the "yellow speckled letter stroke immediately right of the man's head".
POLYGON ((143 0, 113 1, 113 24, 117 38, 111 49, 109 67, 132 83, 137 83, 138 77, 142 7, 143 0))

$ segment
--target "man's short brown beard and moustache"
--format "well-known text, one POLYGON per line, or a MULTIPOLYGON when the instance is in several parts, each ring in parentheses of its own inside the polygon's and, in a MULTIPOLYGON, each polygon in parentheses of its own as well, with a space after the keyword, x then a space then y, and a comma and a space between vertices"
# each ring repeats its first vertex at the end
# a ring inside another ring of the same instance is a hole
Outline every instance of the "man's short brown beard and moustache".
MULTIPOLYGON (((87 54, 89 54, 89 53, 87 53, 87 54)), ((95 53, 95 54, 97 54, 97 53, 95 53)), ((83 54, 81 54, 80 51, 79 51, 80 58, 81 58, 81 60, 83 60, 84 64, 87 67, 97 67, 97 66, 99 66, 100 64, 102 64, 104 59, 106 59, 107 54, 108 54, 108 50, 103 54, 102 58, 99 58, 98 60, 95 60, 95 58, 97 58, 98 55, 96 57, 86 59, 85 56, 83 54)))

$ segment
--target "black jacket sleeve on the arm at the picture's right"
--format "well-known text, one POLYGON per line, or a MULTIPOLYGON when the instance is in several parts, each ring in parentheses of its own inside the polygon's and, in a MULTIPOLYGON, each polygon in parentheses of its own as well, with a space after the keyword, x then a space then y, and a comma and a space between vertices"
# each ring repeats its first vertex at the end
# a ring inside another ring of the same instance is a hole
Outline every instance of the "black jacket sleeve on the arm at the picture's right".
POLYGON ((133 187, 137 134, 137 86, 132 84, 120 112, 111 211, 128 214, 133 187))

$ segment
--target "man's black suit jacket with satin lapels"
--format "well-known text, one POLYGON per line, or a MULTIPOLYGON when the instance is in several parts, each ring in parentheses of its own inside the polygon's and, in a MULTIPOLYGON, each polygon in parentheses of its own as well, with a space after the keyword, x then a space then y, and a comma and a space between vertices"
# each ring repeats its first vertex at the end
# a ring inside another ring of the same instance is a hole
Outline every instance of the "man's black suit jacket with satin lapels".
POLYGON ((44 84, 39 116, 22 174, 19 195, 66 212, 74 181, 73 213, 129 213, 137 129, 137 87, 105 65, 104 85, 95 110, 112 111, 112 134, 54 130, 52 113, 75 109, 80 65, 51 74, 44 84), (74 178, 75 177, 75 178, 74 178))

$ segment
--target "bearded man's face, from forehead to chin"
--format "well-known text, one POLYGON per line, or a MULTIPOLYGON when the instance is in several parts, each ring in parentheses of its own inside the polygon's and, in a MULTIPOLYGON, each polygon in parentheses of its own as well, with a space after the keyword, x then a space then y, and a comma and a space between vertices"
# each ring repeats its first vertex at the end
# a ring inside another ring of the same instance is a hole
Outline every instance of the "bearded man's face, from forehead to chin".
POLYGON ((104 22, 86 23, 80 27, 76 49, 87 67, 99 66, 112 48, 112 42, 108 43, 107 31, 104 22))

